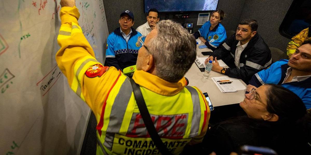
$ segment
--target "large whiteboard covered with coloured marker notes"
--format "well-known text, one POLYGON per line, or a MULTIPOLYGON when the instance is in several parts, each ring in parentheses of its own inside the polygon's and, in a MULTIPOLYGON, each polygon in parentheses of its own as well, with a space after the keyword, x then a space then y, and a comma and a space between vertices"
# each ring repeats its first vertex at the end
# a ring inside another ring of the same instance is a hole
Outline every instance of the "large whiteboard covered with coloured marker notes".
MULTIPOLYGON (((90 108, 55 61, 60 0, 0 1, 0 154, 80 154, 90 108)), ((76 0, 83 33, 103 63, 102 0, 76 0)))

